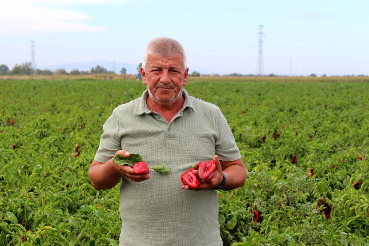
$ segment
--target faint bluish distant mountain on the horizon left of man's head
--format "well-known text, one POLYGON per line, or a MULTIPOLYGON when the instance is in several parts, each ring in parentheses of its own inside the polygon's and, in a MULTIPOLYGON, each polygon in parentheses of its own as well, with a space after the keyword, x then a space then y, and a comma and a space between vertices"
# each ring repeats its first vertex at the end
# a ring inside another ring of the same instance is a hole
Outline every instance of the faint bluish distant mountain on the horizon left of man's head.
POLYGON ((79 71, 90 71, 92 67, 96 67, 100 65, 100 67, 106 68, 108 71, 114 71, 119 74, 122 67, 127 69, 128 74, 136 74, 138 64, 132 64, 127 62, 115 62, 115 70, 114 70, 114 62, 108 60, 94 60, 91 62, 75 62, 75 63, 65 63, 59 65, 51 65, 51 66, 42 66, 37 67, 38 69, 50 69, 51 71, 55 71, 57 69, 64 68, 68 73, 73 69, 78 69, 79 71))

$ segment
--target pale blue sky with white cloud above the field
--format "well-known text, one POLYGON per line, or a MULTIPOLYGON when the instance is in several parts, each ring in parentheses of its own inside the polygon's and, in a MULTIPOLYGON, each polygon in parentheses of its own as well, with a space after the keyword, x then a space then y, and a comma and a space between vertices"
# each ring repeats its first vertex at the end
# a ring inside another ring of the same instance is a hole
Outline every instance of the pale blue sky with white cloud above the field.
POLYGON ((119 73, 170 37, 190 73, 257 74, 262 64, 264 75, 369 75, 368 10, 368 0, 0 0, 0 64, 31 61, 35 41, 37 68, 105 61, 119 73))

